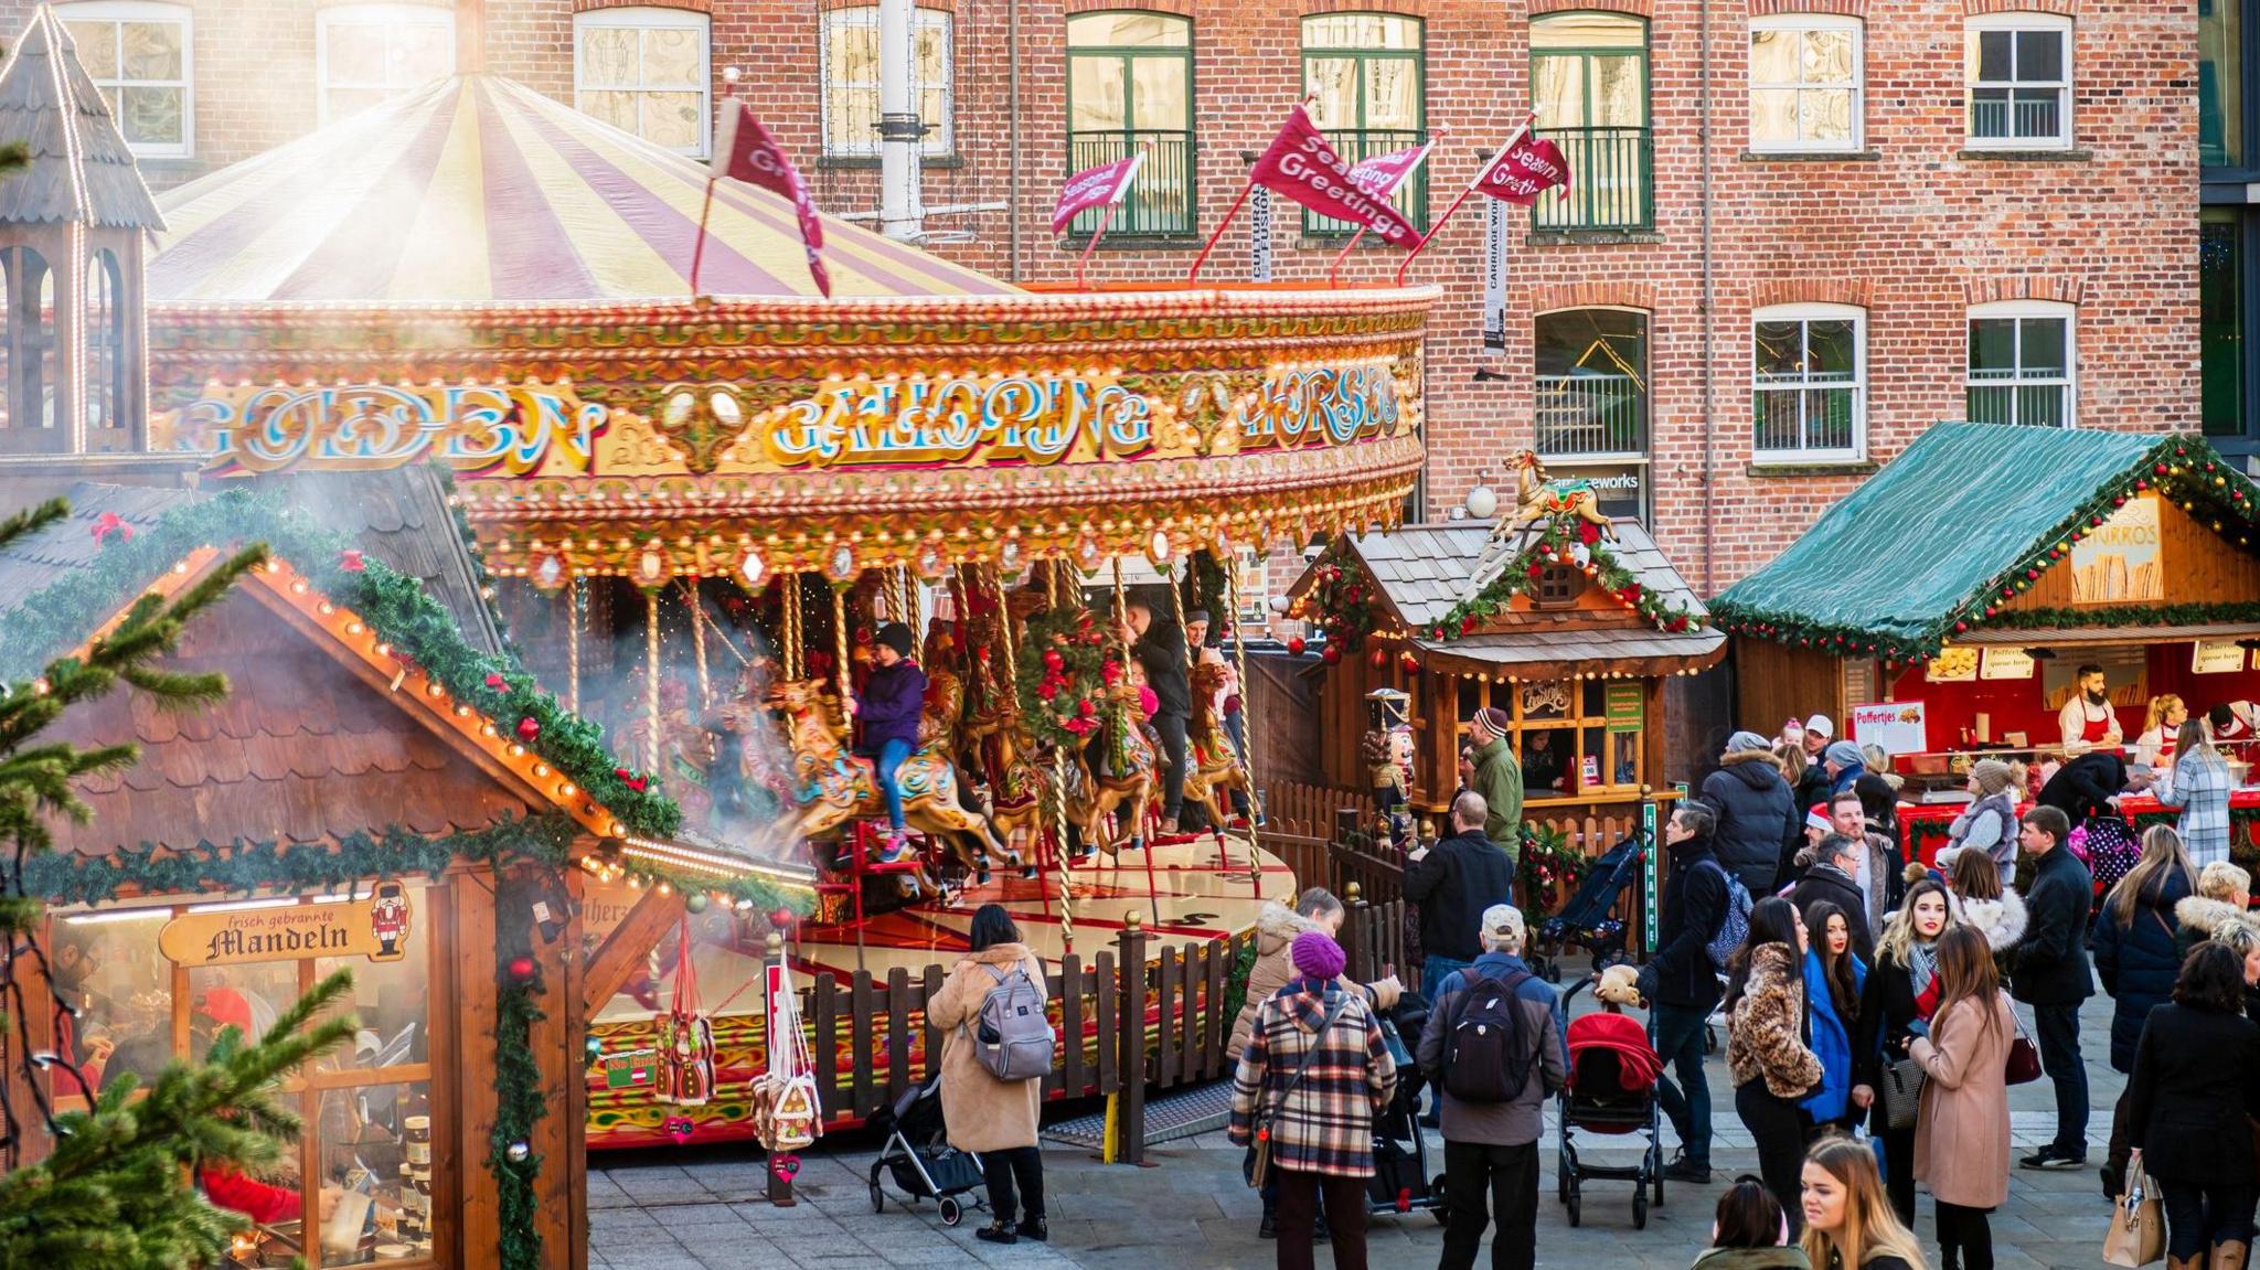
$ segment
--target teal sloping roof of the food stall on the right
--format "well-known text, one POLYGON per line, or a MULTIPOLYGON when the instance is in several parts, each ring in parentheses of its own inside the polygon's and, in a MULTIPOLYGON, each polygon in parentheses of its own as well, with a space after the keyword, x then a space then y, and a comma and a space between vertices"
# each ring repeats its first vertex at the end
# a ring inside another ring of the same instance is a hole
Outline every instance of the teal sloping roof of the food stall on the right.
POLYGON ((1711 610, 1742 635, 1930 655, 2147 493, 2249 547, 2260 486, 2197 434, 1941 423, 1711 610))

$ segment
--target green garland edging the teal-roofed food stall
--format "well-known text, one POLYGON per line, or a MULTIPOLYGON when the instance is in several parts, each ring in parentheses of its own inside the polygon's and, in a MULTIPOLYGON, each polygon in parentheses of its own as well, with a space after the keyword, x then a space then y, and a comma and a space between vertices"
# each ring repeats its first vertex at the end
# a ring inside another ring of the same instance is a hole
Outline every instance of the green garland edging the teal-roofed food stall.
MULTIPOLYGON (((2176 612, 2224 612, 2224 617, 2197 617, 2194 621, 2249 621, 2251 612, 2260 612, 2260 606, 2165 606, 2147 610, 2120 608, 2118 612, 2097 608, 2093 615, 2081 612, 2077 621, 2070 621, 2007 608, 2018 594, 2032 590, 2041 581, 2041 574, 2070 560, 2072 545, 2102 529, 2111 520, 2111 513, 2127 506, 2127 499, 2147 493, 2172 499, 2224 538, 2235 536, 2237 547, 2253 547, 2255 522, 2260 522, 2260 484, 2237 472, 2204 436, 2176 434, 2161 436, 2122 477, 2106 481, 2043 533, 2039 542, 2027 547, 2016 563, 1989 579, 1973 594, 1962 597, 1939 617, 1910 619, 1905 626, 1869 630, 1813 621, 1801 612, 1731 601, 1718 603, 1713 617, 1722 630, 1733 635, 1754 635, 1833 655, 1876 655, 1896 664, 1937 658, 1948 640, 1980 626, 2011 630, 2145 626, 2152 619, 2176 612)), ((2163 619, 2174 624, 2192 621, 2185 617, 2163 619)))

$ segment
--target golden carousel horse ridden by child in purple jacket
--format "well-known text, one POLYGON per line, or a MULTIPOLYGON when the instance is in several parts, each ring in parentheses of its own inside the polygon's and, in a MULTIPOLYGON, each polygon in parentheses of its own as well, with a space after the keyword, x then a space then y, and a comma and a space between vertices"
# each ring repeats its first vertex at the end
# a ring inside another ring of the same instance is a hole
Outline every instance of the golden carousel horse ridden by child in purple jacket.
MULTIPOLYGON (((886 816, 872 762, 847 753, 845 728, 832 723, 823 689, 823 680, 780 680, 768 691, 784 712, 784 741, 793 750, 793 791, 802 804, 793 834, 800 838, 847 818, 886 816)), ((929 838, 947 841, 976 881, 988 881, 990 854, 1026 872, 1019 852, 1006 852, 979 811, 958 807, 956 768, 933 746, 911 750, 895 782, 902 786, 904 820, 929 838), (967 847, 965 838, 974 845, 967 847)))

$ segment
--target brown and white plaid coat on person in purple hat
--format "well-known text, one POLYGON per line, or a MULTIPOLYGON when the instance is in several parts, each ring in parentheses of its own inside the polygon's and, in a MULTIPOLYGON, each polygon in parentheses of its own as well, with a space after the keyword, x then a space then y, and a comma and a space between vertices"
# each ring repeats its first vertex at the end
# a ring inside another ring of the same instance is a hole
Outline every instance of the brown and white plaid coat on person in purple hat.
POLYGON ((1397 1064, 1361 992, 1295 978, 1257 1010, 1254 1033, 1232 1076, 1232 1141, 1254 1141, 1270 1123, 1270 1159, 1297 1173, 1374 1175, 1374 1114, 1390 1105, 1397 1064), (1327 1012, 1342 1015, 1318 1035, 1327 1012), (1315 1053, 1311 1053, 1315 1046, 1315 1053), (1281 1103, 1311 1053, 1302 1082, 1281 1103))

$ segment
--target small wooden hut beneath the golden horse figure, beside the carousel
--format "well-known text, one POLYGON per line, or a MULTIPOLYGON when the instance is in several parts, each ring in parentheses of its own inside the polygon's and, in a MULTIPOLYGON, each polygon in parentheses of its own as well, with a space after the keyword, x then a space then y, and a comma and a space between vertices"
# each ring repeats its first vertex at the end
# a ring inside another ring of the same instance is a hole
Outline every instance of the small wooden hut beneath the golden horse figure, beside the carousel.
POLYGON ((1489 705, 1512 719, 1525 818, 1575 838, 1614 841, 1663 789, 1663 682, 1715 664, 1727 642, 1641 524, 1559 513, 1338 538, 1288 612, 1324 635, 1329 784, 1376 782, 1367 732, 1388 698, 1367 698, 1394 689, 1412 737, 1406 800, 1444 811, 1467 721, 1489 705))

